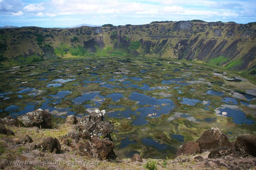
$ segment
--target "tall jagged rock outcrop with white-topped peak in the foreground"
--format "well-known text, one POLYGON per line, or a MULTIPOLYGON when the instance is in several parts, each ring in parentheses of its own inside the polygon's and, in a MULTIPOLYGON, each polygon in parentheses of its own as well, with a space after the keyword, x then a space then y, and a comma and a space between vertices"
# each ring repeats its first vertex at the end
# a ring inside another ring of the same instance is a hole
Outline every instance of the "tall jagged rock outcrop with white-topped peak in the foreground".
MULTIPOLYGON (((105 113, 105 110, 91 112, 76 124, 76 131, 64 136, 73 140, 70 145, 77 149, 80 155, 101 160, 116 159, 114 143, 110 136, 114 127, 110 122, 103 121, 105 113)), ((65 139, 62 141, 69 144, 65 139)))

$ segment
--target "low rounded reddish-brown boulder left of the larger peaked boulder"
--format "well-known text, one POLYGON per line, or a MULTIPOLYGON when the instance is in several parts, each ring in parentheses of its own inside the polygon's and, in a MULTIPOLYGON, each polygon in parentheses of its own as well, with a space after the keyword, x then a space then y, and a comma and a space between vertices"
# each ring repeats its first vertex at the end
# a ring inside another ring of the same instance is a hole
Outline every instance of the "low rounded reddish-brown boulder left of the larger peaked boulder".
POLYGON ((176 157, 178 155, 192 155, 197 153, 200 153, 199 144, 196 142, 187 142, 177 150, 176 157))

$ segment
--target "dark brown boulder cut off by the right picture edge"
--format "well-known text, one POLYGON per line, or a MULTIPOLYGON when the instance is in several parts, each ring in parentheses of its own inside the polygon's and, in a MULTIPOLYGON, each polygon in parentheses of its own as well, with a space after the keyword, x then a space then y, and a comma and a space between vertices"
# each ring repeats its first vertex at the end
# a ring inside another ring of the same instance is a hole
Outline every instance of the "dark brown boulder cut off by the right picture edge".
POLYGON ((256 135, 239 135, 236 138, 234 146, 243 155, 256 157, 256 135))

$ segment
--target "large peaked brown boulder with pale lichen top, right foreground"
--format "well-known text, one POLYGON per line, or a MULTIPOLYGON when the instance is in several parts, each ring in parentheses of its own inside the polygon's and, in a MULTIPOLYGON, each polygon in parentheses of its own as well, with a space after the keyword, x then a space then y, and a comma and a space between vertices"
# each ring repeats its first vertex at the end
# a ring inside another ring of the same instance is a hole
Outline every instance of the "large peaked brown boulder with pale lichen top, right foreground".
POLYGON ((217 127, 204 131, 203 135, 196 141, 199 143, 201 151, 203 149, 211 150, 217 147, 231 147, 228 137, 217 127))

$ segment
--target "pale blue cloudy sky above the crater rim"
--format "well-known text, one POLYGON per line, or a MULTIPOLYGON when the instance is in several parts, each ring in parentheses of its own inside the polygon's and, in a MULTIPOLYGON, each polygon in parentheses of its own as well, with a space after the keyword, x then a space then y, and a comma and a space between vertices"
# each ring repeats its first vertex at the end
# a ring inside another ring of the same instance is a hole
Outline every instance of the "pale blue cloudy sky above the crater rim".
POLYGON ((256 21, 256 0, 0 0, 0 26, 256 21))

